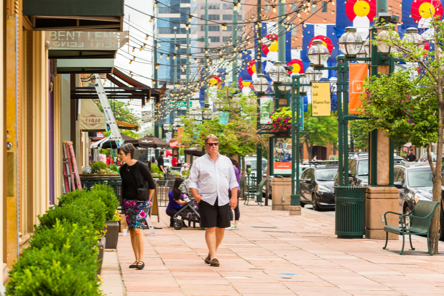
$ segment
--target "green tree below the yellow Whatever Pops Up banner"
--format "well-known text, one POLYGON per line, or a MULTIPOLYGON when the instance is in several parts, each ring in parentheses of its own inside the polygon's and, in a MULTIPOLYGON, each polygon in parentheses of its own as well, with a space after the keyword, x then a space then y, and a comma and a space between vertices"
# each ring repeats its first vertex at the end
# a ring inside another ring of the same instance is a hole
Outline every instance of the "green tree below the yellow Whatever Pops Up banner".
POLYGON ((314 145, 335 145, 337 142, 336 116, 311 116, 311 104, 308 104, 308 112, 304 112, 304 131, 307 132, 301 139, 307 147, 308 159, 313 159, 314 145))

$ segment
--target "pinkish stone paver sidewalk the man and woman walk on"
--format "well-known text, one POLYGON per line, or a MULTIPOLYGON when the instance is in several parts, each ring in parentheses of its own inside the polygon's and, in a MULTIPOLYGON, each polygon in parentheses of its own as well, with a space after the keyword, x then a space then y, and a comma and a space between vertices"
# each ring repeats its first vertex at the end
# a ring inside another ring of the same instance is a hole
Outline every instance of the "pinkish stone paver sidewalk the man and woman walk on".
POLYGON ((128 268, 134 262, 130 236, 119 236, 117 252, 127 295, 444 294, 444 256, 427 256, 422 238, 413 242, 416 251, 406 247, 407 256, 400 256, 401 241, 391 241, 385 251, 382 240, 337 239, 334 218, 322 213, 303 210, 303 216, 289 216, 242 203, 240 210, 240 229, 225 232, 220 267, 203 261, 204 232, 169 228, 165 208, 160 208, 161 223, 152 219, 162 229, 155 237, 147 236, 144 270, 128 268))

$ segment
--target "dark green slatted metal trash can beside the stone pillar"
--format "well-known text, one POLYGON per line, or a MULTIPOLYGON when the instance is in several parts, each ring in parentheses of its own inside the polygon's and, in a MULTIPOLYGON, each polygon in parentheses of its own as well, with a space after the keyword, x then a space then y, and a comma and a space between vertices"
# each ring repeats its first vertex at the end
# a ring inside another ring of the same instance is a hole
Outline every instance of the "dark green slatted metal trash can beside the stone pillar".
POLYGON ((361 186, 334 186, 337 238, 362 238, 366 234, 366 190, 361 186))

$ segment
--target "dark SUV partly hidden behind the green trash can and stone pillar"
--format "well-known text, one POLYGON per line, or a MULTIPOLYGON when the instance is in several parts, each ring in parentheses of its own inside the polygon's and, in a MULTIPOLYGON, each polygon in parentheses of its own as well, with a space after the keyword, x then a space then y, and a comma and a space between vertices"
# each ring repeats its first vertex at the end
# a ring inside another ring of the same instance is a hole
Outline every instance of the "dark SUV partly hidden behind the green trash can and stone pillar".
MULTIPOLYGON (((407 160, 401 156, 395 156, 394 162, 407 164, 407 160)), ((334 185, 339 186, 339 175, 334 176, 334 185)), ((345 178, 347 179, 347 178, 345 178)), ((348 186, 369 185, 369 156, 353 156, 348 159, 348 186)))

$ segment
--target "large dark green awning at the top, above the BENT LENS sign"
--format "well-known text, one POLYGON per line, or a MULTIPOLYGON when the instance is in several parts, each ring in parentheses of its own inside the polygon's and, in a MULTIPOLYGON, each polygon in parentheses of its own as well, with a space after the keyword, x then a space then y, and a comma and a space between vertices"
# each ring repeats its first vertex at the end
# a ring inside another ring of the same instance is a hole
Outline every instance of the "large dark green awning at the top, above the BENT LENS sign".
POLYGON ((34 31, 123 30, 124 0, 23 0, 34 31))

